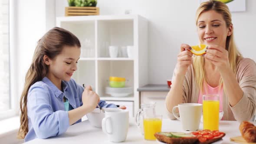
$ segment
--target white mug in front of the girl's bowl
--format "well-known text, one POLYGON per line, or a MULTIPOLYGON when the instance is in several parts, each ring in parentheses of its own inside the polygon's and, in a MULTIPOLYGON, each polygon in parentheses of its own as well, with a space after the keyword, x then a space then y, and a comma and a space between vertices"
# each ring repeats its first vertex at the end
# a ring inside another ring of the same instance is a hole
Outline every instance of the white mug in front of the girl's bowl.
POLYGON ((120 108, 107 108, 102 119, 102 131, 112 142, 125 141, 129 128, 129 111, 120 108))

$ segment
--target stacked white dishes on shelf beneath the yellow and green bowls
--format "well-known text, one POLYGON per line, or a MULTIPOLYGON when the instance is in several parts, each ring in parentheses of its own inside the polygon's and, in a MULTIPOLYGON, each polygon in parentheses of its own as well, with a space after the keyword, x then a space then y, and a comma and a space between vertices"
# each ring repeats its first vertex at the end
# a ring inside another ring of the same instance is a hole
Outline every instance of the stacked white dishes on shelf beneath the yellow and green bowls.
POLYGON ((133 93, 133 88, 132 87, 125 87, 125 88, 106 87, 105 92, 106 94, 109 94, 113 97, 126 97, 133 93))

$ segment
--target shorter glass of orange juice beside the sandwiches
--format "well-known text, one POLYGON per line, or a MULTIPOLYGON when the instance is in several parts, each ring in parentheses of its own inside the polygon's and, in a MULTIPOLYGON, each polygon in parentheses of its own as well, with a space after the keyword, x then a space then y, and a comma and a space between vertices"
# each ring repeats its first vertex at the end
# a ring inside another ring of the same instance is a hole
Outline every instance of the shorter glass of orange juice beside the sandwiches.
POLYGON ((143 126, 145 140, 156 140, 154 134, 161 132, 162 115, 143 115, 143 126))

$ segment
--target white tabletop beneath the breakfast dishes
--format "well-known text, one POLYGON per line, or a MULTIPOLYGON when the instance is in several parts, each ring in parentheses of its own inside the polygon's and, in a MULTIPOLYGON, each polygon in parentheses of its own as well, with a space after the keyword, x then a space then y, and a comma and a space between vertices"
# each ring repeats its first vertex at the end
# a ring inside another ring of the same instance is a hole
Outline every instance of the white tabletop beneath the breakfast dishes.
MULTIPOLYGON (((256 122, 254 122, 256 124, 256 122)), ((240 136, 240 123, 238 121, 220 121, 220 131, 226 133, 223 137, 222 144, 230 144, 230 137, 240 136)), ((200 129, 203 124, 200 123, 200 129)), ((163 119, 162 131, 186 132, 181 128, 181 121, 163 119)), ((82 121, 69 127, 66 133, 59 137, 51 137, 48 139, 34 139, 25 144, 117 144, 108 141, 107 136, 102 132, 101 128, 95 128, 90 125, 89 121, 82 121)), ((141 135, 139 128, 135 125, 134 119, 130 119, 130 126, 125 142, 121 144, 158 144, 157 141, 146 141, 141 135)), ((236 143, 234 143, 236 144, 236 143)))

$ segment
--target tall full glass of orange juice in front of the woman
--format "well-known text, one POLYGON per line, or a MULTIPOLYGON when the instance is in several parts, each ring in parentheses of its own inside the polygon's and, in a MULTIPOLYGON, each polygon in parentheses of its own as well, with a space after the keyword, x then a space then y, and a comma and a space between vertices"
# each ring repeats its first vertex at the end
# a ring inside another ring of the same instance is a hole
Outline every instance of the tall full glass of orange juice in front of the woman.
POLYGON ((203 129, 219 130, 219 95, 203 95, 203 129))

